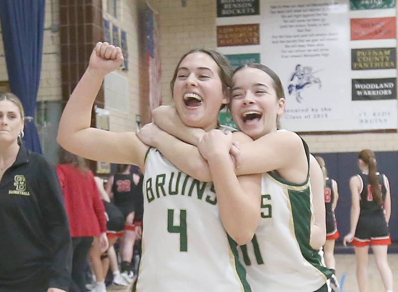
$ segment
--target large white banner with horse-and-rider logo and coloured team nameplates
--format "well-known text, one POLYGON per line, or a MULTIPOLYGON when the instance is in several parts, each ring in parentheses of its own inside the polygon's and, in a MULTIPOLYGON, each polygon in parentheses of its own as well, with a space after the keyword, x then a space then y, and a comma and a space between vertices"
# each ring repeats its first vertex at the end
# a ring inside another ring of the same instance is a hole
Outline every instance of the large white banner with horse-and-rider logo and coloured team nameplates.
POLYGON ((217 15, 220 52, 281 78, 282 127, 397 129, 395 0, 217 0, 217 15))

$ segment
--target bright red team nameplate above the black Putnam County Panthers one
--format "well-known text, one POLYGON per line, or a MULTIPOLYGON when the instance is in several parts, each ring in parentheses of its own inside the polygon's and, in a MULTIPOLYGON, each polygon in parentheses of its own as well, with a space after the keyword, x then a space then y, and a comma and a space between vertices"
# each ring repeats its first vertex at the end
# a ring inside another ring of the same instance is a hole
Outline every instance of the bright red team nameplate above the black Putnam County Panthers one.
POLYGON ((396 17, 351 18, 351 40, 397 38, 396 17))

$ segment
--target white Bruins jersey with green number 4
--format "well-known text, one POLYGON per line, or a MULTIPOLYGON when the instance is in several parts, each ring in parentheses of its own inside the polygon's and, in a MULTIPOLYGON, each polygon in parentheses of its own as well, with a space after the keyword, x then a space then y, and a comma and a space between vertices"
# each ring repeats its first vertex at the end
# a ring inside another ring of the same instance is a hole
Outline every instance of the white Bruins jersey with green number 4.
POLYGON ((212 183, 148 150, 137 292, 250 292, 236 243, 225 232, 212 183))

